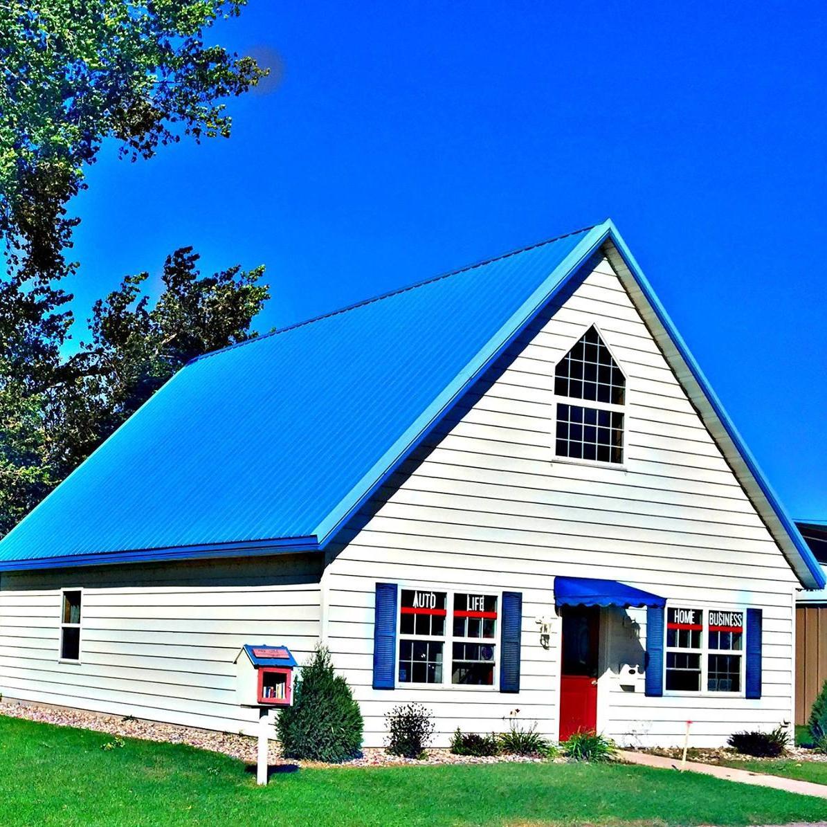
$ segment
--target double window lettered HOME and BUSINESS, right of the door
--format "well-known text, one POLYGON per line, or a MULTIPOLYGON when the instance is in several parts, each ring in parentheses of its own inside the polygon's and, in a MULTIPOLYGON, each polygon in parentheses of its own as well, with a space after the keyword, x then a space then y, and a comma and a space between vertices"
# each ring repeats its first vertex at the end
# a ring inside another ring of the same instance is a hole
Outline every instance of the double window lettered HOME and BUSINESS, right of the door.
POLYGON ((743 618, 741 609, 669 607, 667 691, 742 691, 743 618))

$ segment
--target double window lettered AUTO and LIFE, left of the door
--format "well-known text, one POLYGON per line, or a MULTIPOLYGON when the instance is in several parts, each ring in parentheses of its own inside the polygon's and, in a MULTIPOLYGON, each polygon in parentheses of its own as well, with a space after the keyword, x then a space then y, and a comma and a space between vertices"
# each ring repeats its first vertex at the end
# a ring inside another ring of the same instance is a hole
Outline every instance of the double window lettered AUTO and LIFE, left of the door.
POLYGON ((399 683, 494 686, 499 600, 497 595, 400 590, 399 683))

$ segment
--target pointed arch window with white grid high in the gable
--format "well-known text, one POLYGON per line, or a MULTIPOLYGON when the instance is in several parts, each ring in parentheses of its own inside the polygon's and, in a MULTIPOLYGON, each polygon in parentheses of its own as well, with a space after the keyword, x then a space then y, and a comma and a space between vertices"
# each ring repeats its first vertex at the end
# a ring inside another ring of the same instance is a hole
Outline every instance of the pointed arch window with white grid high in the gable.
POLYGON ((554 394, 557 457, 624 461, 626 377, 595 327, 557 365, 554 394))

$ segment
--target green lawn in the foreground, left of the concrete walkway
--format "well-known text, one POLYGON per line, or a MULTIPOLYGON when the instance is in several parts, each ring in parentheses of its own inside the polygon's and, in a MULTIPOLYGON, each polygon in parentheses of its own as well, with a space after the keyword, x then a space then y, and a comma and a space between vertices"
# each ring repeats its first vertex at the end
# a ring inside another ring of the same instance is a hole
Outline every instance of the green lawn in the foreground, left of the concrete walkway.
POLYGON ((586 764, 277 773, 172 744, 0 717, 12 825, 748 825, 815 821, 824 800, 693 773, 586 764))

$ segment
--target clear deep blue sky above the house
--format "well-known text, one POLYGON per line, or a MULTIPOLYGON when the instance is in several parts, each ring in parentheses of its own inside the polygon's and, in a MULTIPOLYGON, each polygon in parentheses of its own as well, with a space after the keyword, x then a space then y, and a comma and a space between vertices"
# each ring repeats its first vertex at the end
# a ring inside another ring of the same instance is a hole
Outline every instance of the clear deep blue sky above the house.
POLYGON ((610 217, 791 514, 827 519, 823 0, 251 0, 214 38, 274 79, 229 141, 103 152, 79 318, 187 244, 267 266, 264 331, 610 217))

